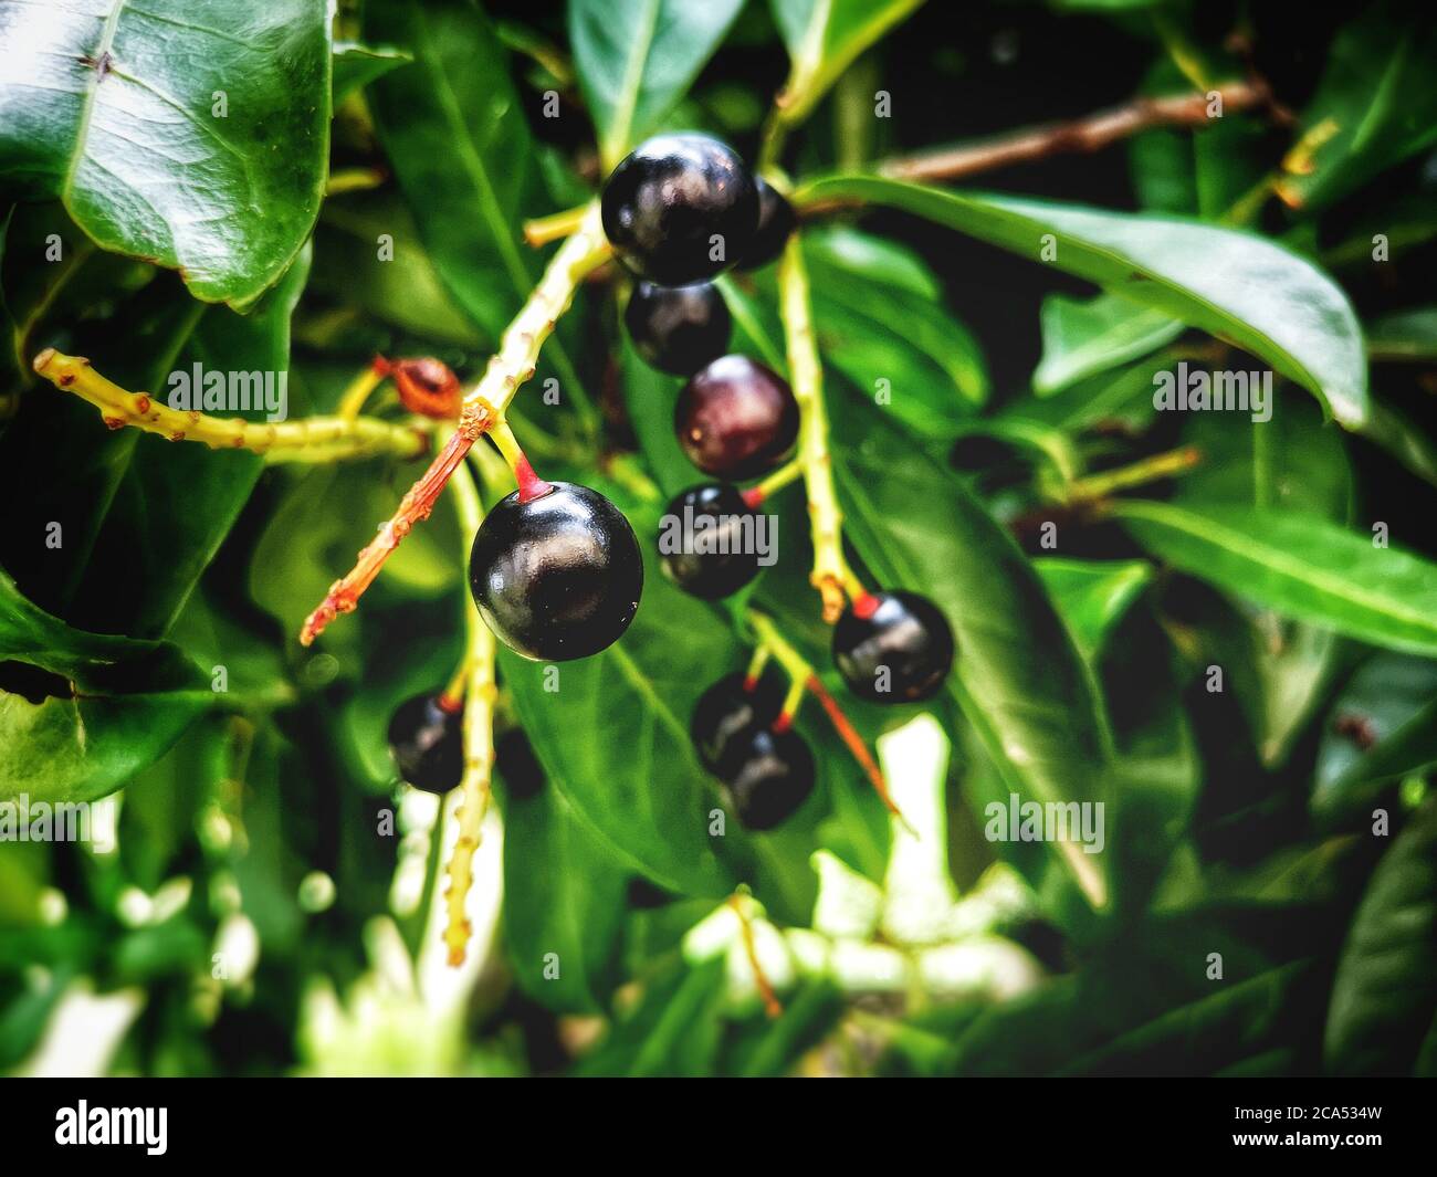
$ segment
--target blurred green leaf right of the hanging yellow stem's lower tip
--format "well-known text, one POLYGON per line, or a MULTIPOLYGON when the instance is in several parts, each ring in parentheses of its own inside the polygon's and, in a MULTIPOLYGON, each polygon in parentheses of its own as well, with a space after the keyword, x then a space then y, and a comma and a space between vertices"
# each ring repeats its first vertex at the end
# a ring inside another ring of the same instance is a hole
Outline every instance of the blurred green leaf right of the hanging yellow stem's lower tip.
POLYGON ((504 948, 530 997, 565 1013, 604 1012, 627 887, 624 865, 558 790, 507 795, 504 948))

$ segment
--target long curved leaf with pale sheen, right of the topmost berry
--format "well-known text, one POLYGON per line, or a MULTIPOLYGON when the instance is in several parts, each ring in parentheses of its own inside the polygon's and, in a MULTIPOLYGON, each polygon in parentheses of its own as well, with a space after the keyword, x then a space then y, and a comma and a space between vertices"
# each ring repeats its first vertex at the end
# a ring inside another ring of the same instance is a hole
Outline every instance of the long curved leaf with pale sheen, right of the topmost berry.
POLYGON ((1282 246, 1175 217, 976 195, 875 177, 816 180, 799 204, 872 203, 1096 282, 1266 359, 1348 428, 1368 415, 1367 356, 1346 295, 1282 246), (1048 254, 1045 256, 1045 250, 1048 254))

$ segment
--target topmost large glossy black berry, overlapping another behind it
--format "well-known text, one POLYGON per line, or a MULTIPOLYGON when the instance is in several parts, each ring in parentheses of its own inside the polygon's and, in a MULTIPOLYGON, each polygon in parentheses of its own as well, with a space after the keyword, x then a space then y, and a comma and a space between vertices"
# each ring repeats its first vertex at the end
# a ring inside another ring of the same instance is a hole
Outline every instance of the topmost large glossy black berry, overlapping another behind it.
POLYGON ((655 135, 609 175, 604 233, 635 277, 687 286, 749 250, 759 188, 733 148, 707 135, 655 135))

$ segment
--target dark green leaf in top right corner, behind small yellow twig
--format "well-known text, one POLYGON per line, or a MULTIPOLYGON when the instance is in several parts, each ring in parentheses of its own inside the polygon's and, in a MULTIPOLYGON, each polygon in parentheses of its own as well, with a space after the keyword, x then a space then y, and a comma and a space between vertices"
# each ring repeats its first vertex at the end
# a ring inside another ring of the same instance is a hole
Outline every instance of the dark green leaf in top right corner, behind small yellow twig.
POLYGON ((1437 32, 1401 6, 1367 6, 1344 27, 1283 161, 1283 201, 1325 208, 1437 142, 1434 59, 1437 32))

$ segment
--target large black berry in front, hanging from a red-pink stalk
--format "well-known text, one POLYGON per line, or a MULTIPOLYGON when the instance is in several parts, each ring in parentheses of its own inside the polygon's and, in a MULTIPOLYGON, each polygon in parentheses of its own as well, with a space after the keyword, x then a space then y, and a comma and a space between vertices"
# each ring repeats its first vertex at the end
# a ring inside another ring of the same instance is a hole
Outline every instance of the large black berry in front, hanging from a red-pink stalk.
POLYGON ((500 502, 474 536, 468 583, 489 628, 526 658, 586 658, 638 611, 644 562, 634 529, 586 486, 552 483, 500 502))

